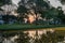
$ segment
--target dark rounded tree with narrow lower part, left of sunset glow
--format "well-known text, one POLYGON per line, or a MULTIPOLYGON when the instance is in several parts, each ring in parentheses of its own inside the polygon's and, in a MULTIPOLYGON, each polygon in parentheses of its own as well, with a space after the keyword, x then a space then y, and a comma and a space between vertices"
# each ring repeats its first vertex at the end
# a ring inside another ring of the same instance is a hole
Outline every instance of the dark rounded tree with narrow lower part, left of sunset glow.
POLYGON ((20 20, 20 22, 23 22, 23 18, 24 18, 24 15, 25 15, 26 12, 27 12, 27 9, 26 9, 25 6, 20 5, 20 6, 17 8, 17 13, 20 14, 20 15, 18 15, 18 20, 20 20))

